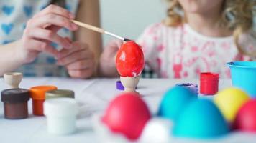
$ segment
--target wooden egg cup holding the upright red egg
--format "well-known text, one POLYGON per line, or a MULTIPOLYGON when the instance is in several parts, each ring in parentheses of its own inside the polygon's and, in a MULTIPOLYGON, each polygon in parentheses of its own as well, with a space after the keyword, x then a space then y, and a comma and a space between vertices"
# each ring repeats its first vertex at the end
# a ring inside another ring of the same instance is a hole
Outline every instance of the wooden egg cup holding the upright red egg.
MULTIPOLYGON (((120 81, 124 86, 124 92, 136 92, 136 87, 140 81, 140 77, 122 77, 120 76, 120 81)), ((139 92, 136 92, 139 94, 139 92)))

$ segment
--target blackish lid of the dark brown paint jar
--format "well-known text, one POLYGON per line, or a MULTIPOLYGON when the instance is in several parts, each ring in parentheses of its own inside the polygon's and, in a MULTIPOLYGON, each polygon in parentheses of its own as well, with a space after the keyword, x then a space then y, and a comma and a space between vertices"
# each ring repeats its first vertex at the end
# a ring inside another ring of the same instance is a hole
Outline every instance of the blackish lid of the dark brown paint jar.
POLYGON ((1 92, 2 102, 27 102, 29 100, 29 90, 27 89, 6 89, 1 92))

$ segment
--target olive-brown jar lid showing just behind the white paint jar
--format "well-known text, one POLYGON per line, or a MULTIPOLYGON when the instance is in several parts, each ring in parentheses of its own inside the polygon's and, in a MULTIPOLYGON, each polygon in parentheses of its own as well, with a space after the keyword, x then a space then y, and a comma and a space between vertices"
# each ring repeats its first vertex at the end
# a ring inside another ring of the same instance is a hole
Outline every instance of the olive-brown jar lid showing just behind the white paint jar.
POLYGON ((50 90, 45 93, 45 99, 53 99, 60 97, 75 98, 75 92, 73 92, 72 90, 58 89, 50 90))

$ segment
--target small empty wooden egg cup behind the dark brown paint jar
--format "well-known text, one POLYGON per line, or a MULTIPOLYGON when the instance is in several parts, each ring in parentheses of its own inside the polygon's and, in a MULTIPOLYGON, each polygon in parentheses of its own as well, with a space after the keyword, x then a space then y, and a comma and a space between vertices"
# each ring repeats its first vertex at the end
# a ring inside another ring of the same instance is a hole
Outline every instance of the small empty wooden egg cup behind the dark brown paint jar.
POLYGON ((10 72, 4 74, 4 82, 9 85, 9 89, 17 89, 19 83, 22 82, 22 73, 10 72))

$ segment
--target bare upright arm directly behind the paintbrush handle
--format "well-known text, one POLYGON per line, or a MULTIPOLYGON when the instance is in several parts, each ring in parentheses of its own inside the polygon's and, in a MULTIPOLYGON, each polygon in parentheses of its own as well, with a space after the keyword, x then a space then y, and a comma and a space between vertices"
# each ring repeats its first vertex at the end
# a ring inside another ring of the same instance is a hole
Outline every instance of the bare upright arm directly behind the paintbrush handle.
MULTIPOLYGON (((93 26, 100 26, 99 0, 80 1, 76 20, 93 26)), ((101 34, 80 27, 75 32, 75 40, 88 44, 94 54, 96 67, 98 67, 99 56, 102 51, 101 34)))

